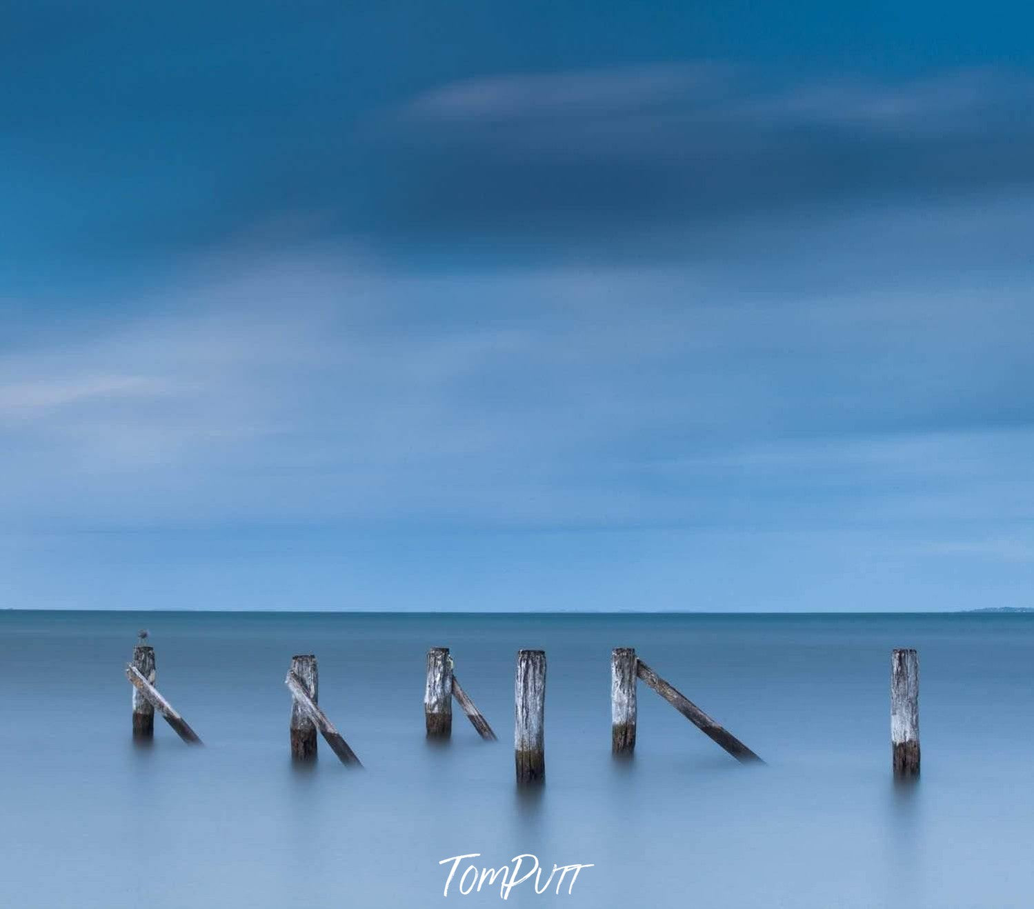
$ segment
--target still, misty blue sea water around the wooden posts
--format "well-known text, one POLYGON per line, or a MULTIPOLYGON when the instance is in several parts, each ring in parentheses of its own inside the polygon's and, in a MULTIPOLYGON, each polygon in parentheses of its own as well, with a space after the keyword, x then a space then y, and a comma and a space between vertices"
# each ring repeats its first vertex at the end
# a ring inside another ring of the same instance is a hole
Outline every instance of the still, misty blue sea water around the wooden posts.
POLYGON ((1034 905, 1034 616, 369 615, 0 612, 0 905, 495 906, 443 897, 481 853, 592 863, 573 891, 506 905, 1034 905), (130 740, 136 629, 158 687, 205 740, 160 720, 130 740), (424 658, 499 735, 458 711, 423 731, 424 658), (610 650, 647 663, 766 761, 744 767, 639 686, 631 763, 610 749, 610 650), (919 648, 922 778, 889 774, 889 653, 919 648), (547 783, 513 779, 519 647, 548 659, 547 783), (321 743, 290 761, 295 653, 365 764, 321 743), (462 872, 466 863, 460 866, 462 872))

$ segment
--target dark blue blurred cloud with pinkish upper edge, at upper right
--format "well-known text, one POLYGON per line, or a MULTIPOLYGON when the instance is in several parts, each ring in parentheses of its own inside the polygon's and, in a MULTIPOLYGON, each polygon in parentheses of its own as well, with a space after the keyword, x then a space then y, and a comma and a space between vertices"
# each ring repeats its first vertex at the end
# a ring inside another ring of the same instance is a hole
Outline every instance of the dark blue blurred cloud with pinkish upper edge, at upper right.
MULTIPOLYGON (((772 83, 727 66, 488 78, 407 104, 370 226, 430 238, 649 243, 744 217, 1034 182, 1034 82, 991 70, 772 83)), ((685 253, 685 249, 683 249, 685 253)))

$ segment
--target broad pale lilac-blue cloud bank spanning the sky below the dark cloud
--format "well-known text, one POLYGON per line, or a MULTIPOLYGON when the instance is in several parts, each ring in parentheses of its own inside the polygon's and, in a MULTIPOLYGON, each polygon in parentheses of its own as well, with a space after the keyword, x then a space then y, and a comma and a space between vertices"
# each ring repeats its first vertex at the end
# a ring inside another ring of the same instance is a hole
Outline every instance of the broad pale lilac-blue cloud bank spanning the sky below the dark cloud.
POLYGON ((7 520, 1028 516, 1011 290, 976 307, 962 289, 759 297, 667 267, 231 262, 0 359, 7 520))

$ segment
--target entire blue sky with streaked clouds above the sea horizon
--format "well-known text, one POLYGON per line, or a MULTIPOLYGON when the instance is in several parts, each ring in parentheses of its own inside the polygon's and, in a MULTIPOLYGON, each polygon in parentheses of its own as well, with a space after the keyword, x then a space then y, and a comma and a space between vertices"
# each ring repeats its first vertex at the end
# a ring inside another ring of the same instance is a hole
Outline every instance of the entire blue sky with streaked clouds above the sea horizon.
POLYGON ((5 4, 0 608, 1034 606, 1032 29, 5 4))

